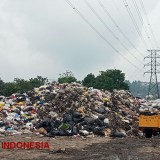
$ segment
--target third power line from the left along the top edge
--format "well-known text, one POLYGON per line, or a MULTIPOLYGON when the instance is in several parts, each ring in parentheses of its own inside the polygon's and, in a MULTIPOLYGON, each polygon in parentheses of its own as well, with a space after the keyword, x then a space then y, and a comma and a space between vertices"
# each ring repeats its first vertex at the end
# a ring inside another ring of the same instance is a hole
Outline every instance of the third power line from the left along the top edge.
POLYGON ((107 16, 111 19, 112 23, 117 27, 119 32, 123 35, 123 37, 129 42, 129 44, 139 53, 143 56, 143 53, 137 50, 137 48, 134 46, 134 44, 129 40, 129 38, 125 35, 125 33, 122 31, 122 29, 119 27, 119 25, 116 23, 116 21, 112 18, 111 14, 108 12, 108 10, 105 8, 103 3, 100 0, 97 0, 104 12, 107 14, 107 16))

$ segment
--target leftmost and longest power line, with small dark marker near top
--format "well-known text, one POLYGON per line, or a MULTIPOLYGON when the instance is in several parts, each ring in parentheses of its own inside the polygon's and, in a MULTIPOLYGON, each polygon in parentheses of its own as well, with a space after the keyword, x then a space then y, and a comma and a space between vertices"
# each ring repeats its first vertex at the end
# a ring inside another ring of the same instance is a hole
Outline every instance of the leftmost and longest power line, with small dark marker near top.
POLYGON ((66 2, 75 10, 75 12, 95 31, 116 53, 120 54, 128 63, 130 63, 135 68, 139 69, 136 65, 134 65, 130 60, 128 60, 122 53, 120 53, 82 14, 81 12, 72 5, 69 0, 66 2))

